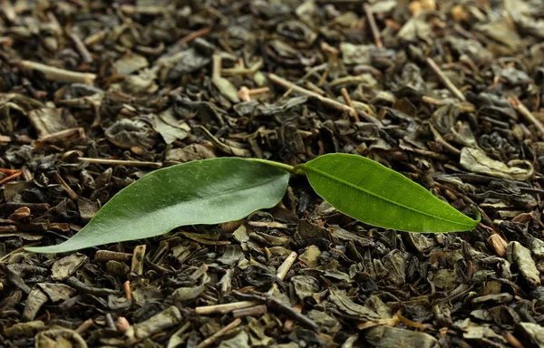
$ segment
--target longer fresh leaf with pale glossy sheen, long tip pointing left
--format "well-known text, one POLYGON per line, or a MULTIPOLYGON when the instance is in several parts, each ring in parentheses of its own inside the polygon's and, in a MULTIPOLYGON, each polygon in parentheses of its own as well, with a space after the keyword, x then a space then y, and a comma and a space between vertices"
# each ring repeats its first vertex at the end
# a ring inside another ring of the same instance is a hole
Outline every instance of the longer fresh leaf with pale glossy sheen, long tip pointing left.
POLYGON ((122 189, 75 236, 35 253, 154 237, 175 227, 219 224, 272 208, 283 198, 289 172, 239 158, 198 160, 159 169, 122 189))

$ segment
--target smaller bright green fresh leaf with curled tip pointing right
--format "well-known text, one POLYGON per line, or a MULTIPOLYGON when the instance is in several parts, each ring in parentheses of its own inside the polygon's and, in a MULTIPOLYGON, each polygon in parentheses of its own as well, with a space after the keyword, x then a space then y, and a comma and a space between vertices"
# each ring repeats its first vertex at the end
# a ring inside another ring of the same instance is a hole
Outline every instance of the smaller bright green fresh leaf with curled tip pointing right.
POLYGON ((299 166, 319 196, 369 225, 408 232, 466 231, 478 225, 427 189, 362 156, 320 156, 299 166))

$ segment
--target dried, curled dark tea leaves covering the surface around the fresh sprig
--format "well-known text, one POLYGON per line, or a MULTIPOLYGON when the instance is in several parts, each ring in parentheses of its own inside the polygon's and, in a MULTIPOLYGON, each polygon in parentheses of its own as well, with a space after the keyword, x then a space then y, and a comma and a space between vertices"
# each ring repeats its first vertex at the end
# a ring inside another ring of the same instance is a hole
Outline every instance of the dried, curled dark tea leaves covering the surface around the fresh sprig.
POLYGON ((0 346, 544 346, 543 39, 539 0, 0 1, 0 346), (481 224, 369 227, 294 178, 242 221, 24 251, 155 169, 330 152, 481 224))

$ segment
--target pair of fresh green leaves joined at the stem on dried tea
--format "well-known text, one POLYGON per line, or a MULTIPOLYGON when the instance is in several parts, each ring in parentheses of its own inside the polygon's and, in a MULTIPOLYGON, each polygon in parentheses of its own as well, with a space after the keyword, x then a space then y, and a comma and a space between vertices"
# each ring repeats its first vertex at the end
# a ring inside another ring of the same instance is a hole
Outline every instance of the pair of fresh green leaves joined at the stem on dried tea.
POLYGON ((272 208, 292 172, 305 173, 316 193, 346 215, 377 227, 454 232, 473 220, 403 175, 361 156, 328 154, 293 169, 262 160, 196 160, 151 172, 115 195, 75 236, 36 253, 62 253, 160 236, 175 227, 219 224, 272 208))

